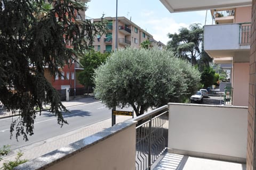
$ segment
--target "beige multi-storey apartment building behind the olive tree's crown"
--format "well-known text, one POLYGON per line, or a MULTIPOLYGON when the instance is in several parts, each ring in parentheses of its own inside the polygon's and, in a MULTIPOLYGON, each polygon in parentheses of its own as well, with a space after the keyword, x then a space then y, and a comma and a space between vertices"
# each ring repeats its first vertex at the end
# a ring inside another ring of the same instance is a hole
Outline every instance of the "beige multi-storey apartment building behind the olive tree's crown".
MULTIPOLYGON (((94 50, 104 52, 111 52, 115 50, 116 39, 116 18, 105 17, 107 20, 106 35, 98 35, 94 39, 94 50)), ((101 19, 93 19, 93 22, 99 22, 101 19)), ((141 29, 131 20, 125 17, 117 18, 117 48, 125 48, 131 46, 135 48, 140 47, 140 43, 147 39, 154 39, 146 30, 141 29)))

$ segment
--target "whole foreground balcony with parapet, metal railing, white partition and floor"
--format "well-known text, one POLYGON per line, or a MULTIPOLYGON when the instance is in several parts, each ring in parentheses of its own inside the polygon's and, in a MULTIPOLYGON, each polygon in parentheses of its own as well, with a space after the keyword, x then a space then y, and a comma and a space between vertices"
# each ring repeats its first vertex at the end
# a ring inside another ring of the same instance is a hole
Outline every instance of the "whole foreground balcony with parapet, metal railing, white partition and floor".
POLYGON ((247 107, 169 103, 15 169, 242 170, 246 141, 247 107))

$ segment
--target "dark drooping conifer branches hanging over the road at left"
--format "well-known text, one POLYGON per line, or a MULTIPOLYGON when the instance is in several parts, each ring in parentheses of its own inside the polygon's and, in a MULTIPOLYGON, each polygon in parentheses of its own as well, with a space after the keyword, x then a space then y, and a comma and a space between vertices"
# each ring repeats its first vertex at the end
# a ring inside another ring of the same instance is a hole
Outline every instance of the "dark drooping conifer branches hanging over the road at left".
POLYGON ((19 135, 25 140, 33 135, 34 108, 42 108, 43 102, 51 103, 59 124, 67 123, 61 115, 66 108, 44 69, 60 75, 59 68, 76 60, 103 29, 90 20, 74 22, 78 10, 85 6, 77 0, 0 1, 0 100, 7 110, 19 109, 20 116, 11 124, 11 136, 16 131, 17 140, 19 135), (66 47, 70 42, 73 48, 66 47))

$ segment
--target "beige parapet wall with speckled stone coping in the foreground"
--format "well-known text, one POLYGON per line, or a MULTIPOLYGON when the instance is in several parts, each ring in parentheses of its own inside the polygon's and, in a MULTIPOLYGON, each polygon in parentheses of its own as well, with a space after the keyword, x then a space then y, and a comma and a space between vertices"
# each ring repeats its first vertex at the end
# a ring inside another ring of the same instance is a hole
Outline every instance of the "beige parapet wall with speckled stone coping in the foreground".
POLYGON ((14 169, 134 169, 136 124, 117 124, 14 169))

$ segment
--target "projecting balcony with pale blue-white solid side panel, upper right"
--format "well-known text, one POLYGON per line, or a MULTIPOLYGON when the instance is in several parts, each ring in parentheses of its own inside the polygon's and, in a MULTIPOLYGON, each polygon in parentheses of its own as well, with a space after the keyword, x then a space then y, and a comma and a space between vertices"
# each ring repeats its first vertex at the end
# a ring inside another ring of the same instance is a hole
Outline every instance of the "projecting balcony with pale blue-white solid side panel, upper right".
POLYGON ((204 26, 204 50, 212 58, 233 57, 249 52, 251 23, 204 26))

